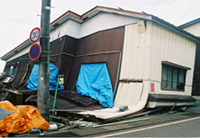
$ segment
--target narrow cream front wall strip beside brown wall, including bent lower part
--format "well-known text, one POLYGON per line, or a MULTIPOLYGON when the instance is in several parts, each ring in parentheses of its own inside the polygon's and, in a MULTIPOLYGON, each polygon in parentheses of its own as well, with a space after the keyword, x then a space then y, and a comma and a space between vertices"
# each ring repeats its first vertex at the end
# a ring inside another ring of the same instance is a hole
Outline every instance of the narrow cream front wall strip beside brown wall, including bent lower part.
POLYGON ((125 28, 123 58, 120 82, 115 106, 127 105, 129 108, 137 106, 143 109, 149 90, 150 78, 150 39, 147 33, 151 28, 146 22, 140 21, 125 28), (140 104, 139 104, 140 103, 140 104))

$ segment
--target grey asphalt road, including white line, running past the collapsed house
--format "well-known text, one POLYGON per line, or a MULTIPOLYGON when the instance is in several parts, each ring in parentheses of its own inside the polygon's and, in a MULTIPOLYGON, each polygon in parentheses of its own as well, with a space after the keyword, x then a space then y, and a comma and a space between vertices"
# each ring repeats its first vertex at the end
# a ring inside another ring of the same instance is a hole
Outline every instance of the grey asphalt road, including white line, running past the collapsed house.
POLYGON ((200 137, 200 106, 185 112, 158 113, 124 121, 69 130, 65 126, 57 131, 15 137, 200 137))

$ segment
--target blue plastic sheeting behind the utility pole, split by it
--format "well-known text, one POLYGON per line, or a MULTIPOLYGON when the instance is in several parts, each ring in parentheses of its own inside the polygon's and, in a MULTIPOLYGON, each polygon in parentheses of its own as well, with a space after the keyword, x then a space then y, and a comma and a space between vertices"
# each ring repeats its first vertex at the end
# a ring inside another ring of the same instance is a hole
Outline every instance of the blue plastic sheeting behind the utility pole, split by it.
MULTIPOLYGON (((36 90, 38 89, 38 72, 39 72, 39 65, 34 64, 31 75, 28 80, 27 88, 30 90, 36 90)), ((52 64, 49 63, 49 89, 55 90, 56 89, 56 83, 57 83, 57 75, 58 75, 58 68, 52 64)), ((59 85, 58 90, 63 90, 64 86, 59 85)))

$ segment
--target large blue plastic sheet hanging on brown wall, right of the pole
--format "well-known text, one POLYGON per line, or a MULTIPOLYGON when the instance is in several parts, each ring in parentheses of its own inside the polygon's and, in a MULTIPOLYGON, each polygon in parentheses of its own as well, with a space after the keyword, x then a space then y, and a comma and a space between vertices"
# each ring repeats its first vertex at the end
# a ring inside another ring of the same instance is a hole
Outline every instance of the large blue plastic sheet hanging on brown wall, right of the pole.
POLYGON ((113 107, 113 90, 105 63, 82 64, 78 81, 78 93, 89 96, 104 107, 113 107))

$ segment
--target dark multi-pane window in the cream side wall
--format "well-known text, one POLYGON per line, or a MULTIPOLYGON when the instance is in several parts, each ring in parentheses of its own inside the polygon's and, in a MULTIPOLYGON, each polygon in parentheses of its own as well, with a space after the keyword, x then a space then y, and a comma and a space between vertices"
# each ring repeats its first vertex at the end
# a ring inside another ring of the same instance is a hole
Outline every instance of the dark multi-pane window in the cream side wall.
POLYGON ((162 64, 161 88, 165 90, 184 91, 186 69, 162 64))

